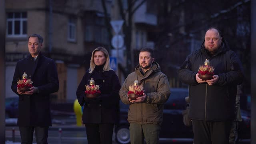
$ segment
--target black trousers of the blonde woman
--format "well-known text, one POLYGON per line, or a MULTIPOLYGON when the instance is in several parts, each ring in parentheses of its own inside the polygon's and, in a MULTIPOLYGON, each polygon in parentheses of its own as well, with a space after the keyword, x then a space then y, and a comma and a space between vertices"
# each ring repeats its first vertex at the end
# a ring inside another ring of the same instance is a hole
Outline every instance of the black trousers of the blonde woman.
POLYGON ((85 124, 88 144, 112 144, 114 124, 85 124))

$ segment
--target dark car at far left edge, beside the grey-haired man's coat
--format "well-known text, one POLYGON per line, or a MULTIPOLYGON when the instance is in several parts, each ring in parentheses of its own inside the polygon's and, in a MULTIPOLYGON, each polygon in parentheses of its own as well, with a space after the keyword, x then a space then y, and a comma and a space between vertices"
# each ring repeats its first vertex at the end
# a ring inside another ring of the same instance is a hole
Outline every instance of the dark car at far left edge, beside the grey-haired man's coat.
POLYGON ((19 97, 5 99, 5 118, 18 118, 19 97))

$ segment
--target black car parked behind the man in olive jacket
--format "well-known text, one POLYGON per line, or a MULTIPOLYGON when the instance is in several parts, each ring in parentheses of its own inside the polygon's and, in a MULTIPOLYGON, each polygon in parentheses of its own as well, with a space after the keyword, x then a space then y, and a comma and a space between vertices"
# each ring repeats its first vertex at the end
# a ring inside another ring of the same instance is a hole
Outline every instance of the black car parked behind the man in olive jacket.
MULTIPOLYGON (((164 105, 164 120, 160 131, 160 141, 192 142, 192 126, 183 124, 182 111, 186 108, 186 88, 172 88, 171 95, 164 105)), ((127 121, 129 105, 120 101, 120 122, 115 127, 115 137, 118 144, 129 144, 129 123, 127 121)), ((240 124, 240 138, 250 138, 250 113, 241 110, 243 121, 240 124)))

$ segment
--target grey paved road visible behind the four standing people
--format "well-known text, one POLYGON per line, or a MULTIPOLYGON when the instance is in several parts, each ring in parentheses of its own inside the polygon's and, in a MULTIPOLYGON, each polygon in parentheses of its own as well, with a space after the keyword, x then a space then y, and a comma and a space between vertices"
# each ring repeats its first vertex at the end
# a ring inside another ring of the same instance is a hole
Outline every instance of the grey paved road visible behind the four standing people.
MULTIPOLYGON (((88 144, 85 127, 76 126, 74 116, 67 116, 65 118, 55 116, 52 123, 53 126, 49 128, 48 132, 48 144, 88 144), (61 133, 59 132, 59 128, 62 128, 61 133)), ((6 126, 6 141, 13 140, 13 128, 15 142, 20 142, 20 132, 17 126, 6 126)), ((33 140, 34 144, 36 144, 36 139, 34 138, 33 140)), ((179 140, 160 138, 160 144, 192 144, 191 141, 182 138, 179 140)), ((113 144, 116 144, 116 142, 113 142, 113 144)), ((243 140, 239 144, 250 144, 250 140, 243 140)))

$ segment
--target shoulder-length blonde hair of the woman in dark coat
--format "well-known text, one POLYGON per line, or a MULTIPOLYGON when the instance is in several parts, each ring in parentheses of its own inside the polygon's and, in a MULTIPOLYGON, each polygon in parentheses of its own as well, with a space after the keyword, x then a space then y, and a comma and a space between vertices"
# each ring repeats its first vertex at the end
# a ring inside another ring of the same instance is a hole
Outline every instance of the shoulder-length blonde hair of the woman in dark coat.
POLYGON ((110 60, 109 60, 109 55, 108 55, 108 51, 106 50, 106 48, 103 48, 103 47, 98 47, 98 48, 95 48, 95 50, 92 52, 92 57, 91 57, 91 61, 90 61, 90 68, 89 68, 89 73, 92 73, 92 71, 94 70, 95 68, 95 63, 94 63, 94 54, 95 52, 103 52, 104 53, 104 56, 106 58, 106 62, 104 64, 104 67, 103 67, 103 72, 104 71, 109 71, 109 70, 112 70, 110 68, 110 60))

